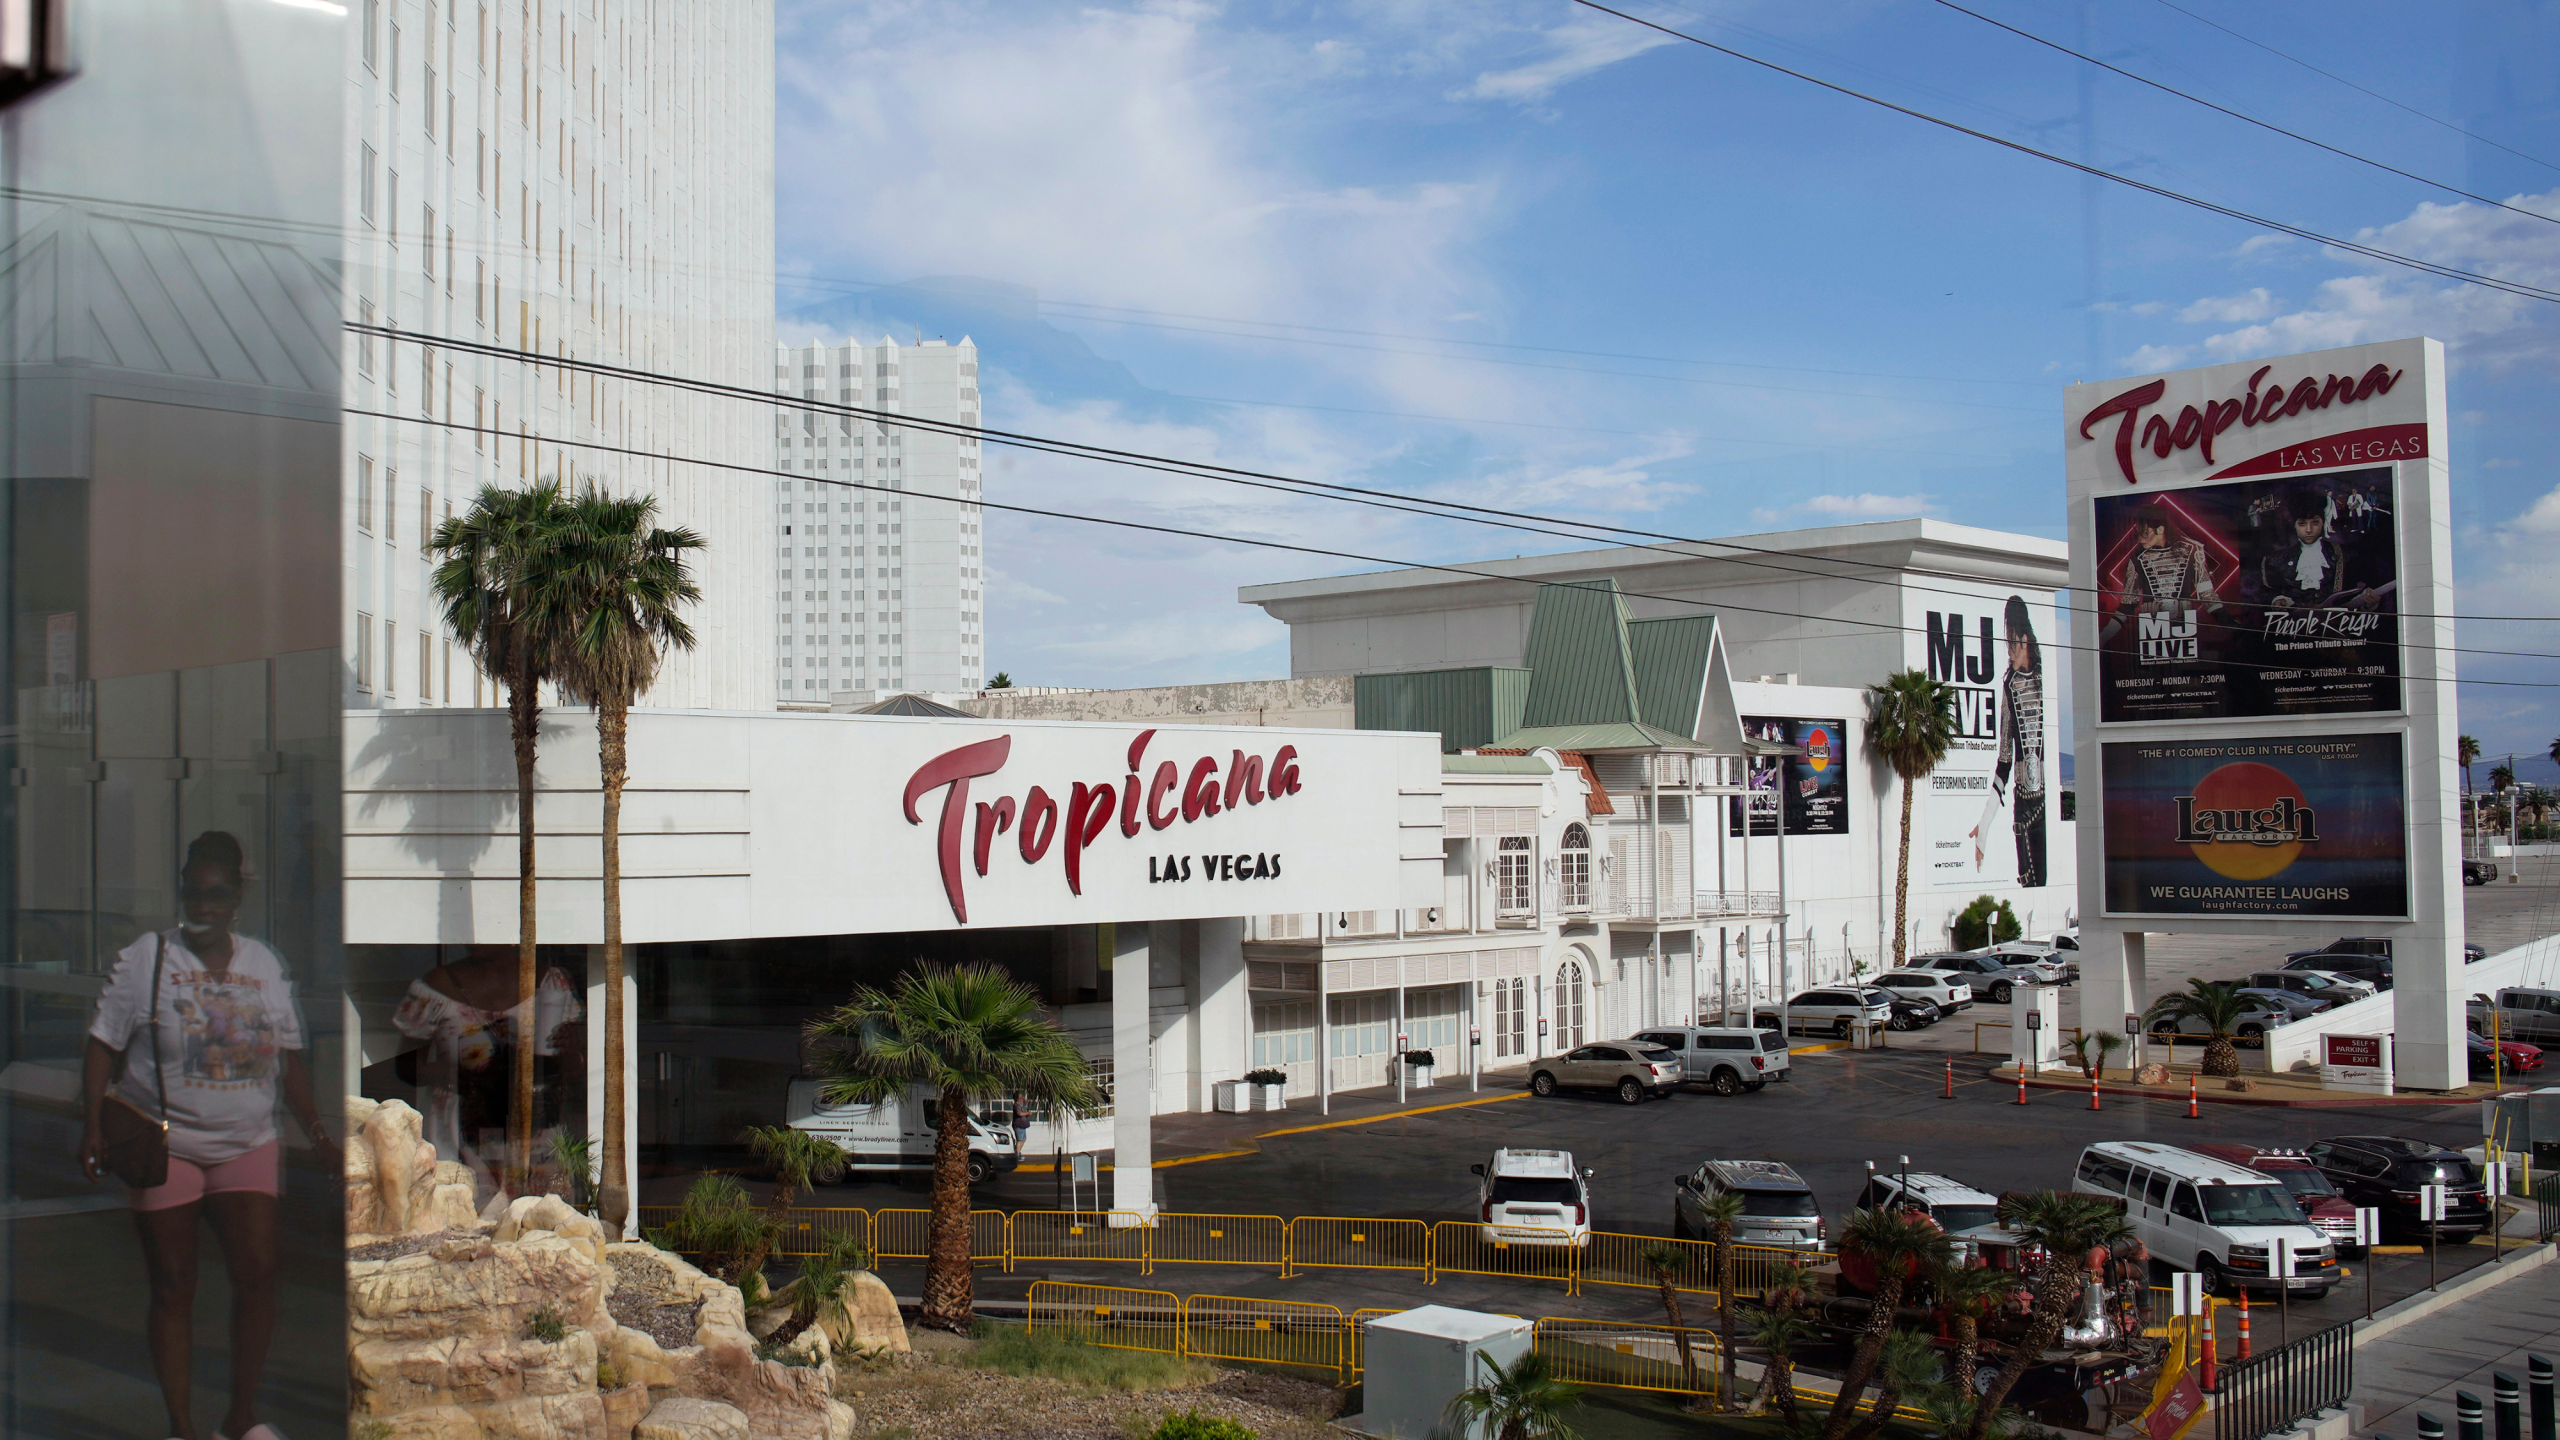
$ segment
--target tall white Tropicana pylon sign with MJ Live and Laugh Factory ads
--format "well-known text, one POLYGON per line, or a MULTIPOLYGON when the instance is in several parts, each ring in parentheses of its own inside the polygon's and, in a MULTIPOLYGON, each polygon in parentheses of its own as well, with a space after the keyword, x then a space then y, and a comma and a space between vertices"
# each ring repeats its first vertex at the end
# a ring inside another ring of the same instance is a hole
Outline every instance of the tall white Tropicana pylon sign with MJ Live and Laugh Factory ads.
POLYGON ((2143 1007, 2145 930, 2353 920, 2394 940, 2401 1084, 2463 1084, 2442 346, 2063 405, 2086 1004, 2143 1007))

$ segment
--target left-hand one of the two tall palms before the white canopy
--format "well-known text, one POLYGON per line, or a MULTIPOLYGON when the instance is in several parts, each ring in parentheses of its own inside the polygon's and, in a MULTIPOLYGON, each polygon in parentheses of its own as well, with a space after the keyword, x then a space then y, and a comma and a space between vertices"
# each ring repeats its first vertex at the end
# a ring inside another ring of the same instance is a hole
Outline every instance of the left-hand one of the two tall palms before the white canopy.
MULTIPOLYGON (((499 489, 484 484, 471 510, 428 538, 435 556, 430 587, 445 628, 471 664, 507 689, 507 733, 515 740, 515 994, 532 999, 535 866, 532 769, 543 738, 543 684, 556 676, 566 615, 538 579, 558 553, 566 505, 558 484, 499 489)), ((532 1035, 515 1038, 515 1102, 507 1143, 517 1156, 515 1184, 532 1189, 532 1035)))

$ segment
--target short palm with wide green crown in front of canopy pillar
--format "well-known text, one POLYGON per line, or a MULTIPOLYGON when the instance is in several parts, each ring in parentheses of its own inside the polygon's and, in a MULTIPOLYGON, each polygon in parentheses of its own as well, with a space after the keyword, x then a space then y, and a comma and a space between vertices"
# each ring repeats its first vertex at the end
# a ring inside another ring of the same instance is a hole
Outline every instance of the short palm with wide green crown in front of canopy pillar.
POLYGON ((1021 1094, 1060 1109, 1101 1104, 1083 1053, 1039 999, 991 963, 919 963, 891 989, 863 986, 809 1022, 824 1104, 899 1102, 909 1086, 934 1094, 934 1199, 924 1240, 919 1325, 968 1335, 975 1317, 968 1238, 970 1102, 1021 1094))

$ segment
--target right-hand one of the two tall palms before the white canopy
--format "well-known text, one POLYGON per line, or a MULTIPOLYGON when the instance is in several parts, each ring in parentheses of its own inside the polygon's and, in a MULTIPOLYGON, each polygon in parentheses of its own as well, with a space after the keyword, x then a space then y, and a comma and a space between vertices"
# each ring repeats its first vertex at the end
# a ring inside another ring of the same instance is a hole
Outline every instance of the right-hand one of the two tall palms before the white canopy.
POLYGON ((604 771, 604 1222, 630 1220, 630 1156, 622 1153, 622 784, 630 779, 630 710, 658 679, 666 651, 691 651, 681 610, 701 600, 686 553, 704 538, 660 530, 658 500, 604 495, 589 482, 568 502, 561 541, 535 577, 538 607, 563 615, 558 687, 596 707, 604 771))

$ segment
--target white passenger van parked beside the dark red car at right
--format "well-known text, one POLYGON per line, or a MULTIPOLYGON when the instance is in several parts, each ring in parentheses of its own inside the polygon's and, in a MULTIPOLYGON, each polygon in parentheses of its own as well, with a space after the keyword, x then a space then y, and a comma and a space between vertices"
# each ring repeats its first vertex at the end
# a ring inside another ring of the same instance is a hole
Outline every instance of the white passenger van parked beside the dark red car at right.
POLYGON ((2122 1199, 2150 1258, 2202 1271, 2214 1294, 2281 1281, 2319 1299, 2337 1284, 2337 1250, 2273 1176, 2153 1140, 2107 1140, 2081 1150, 2071 1189, 2122 1199), (2278 1238, 2294 1250, 2291 1276, 2268 1273, 2278 1238))

